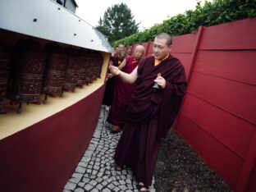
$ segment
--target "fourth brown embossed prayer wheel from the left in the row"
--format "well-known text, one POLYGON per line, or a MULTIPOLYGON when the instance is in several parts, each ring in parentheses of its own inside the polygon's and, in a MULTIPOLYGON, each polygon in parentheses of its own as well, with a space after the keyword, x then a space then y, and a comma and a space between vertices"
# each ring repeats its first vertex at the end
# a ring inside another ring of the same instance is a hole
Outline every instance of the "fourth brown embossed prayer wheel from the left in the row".
POLYGON ((75 48, 66 48, 67 55, 67 66, 66 66, 66 74, 64 80, 64 87, 66 91, 75 91, 75 86, 77 85, 78 80, 78 69, 80 66, 79 61, 79 49, 75 48))

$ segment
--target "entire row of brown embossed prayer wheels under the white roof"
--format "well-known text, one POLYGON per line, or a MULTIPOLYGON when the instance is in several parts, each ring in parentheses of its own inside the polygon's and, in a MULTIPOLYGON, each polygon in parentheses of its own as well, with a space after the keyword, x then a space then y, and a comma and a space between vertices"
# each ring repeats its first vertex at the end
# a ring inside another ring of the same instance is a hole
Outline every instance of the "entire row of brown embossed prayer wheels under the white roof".
POLYGON ((42 48, 32 39, 20 39, 12 48, 0 45, 0 113, 6 112, 4 98, 18 104, 21 113, 22 103, 46 103, 48 95, 62 97, 64 90, 92 83, 102 66, 102 54, 92 50, 57 43, 42 48))

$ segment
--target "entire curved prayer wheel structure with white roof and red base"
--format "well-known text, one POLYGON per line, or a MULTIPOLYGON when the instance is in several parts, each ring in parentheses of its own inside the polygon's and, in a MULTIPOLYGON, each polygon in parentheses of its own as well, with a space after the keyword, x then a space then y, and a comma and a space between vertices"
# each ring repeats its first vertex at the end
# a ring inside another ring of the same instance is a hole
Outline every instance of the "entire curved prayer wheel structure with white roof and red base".
POLYGON ((0 191, 63 190, 97 126, 111 52, 56 2, 0 2, 0 191))

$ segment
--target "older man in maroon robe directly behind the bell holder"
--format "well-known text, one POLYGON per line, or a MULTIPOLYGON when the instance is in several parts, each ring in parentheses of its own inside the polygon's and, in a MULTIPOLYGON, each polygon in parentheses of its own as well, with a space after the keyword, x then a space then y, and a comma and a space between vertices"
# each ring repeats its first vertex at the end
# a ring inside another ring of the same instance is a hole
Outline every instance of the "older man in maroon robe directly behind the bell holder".
MULTIPOLYGON (((138 66, 140 59, 144 56, 145 48, 142 45, 137 45, 135 48, 134 56, 126 57, 118 68, 130 74, 138 66)), ((121 131, 126 121, 126 110, 130 97, 135 89, 135 84, 128 84, 117 77, 116 85, 114 88, 113 102, 110 108, 107 121, 112 126, 112 132, 117 133, 121 131)))

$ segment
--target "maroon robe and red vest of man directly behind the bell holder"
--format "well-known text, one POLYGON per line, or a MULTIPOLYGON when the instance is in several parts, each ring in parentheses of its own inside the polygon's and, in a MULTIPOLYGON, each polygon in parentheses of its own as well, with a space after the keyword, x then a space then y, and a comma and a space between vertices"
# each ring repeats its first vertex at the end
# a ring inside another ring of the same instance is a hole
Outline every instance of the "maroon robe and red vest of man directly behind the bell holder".
MULTIPOLYGON (((139 61, 136 62, 135 57, 126 57, 126 66, 122 71, 130 74, 134 71, 135 67, 138 66, 138 63, 139 61)), ((126 110, 134 89, 135 84, 128 84, 117 77, 113 94, 113 103, 107 117, 107 121, 112 125, 119 126, 121 128, 125 125, 126 110)))

